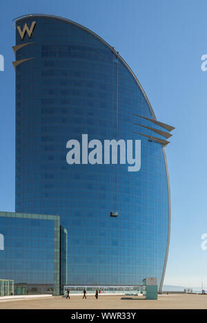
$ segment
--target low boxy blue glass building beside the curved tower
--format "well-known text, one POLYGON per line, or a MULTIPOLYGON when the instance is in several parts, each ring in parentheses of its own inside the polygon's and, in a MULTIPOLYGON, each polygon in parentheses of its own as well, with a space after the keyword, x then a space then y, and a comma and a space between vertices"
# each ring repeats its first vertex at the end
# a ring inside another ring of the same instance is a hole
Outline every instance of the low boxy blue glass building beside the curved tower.
POLYGON ((59 216, 0 212, 0 234, 0 278, 14 293, 59 295, 59 216))

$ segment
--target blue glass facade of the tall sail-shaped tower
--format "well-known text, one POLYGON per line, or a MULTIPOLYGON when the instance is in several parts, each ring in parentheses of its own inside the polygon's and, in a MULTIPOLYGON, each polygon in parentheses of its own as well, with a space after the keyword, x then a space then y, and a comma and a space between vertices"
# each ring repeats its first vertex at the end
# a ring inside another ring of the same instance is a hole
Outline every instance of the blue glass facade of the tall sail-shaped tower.
POLYGON ((170 221, 165 152, 135 134, 155 135, 143 127, 152 122, 135 116, 155 120, 148 98, 97 35, 59 17, 23 17, 16 26, 23 31, 34 21, 30 37, 21 39, 16 28, 14 48, 16 211, 60 216, 68 232, 68 284, 137 285, 157 277, 161 287, 170 221), (68 165, 66 143, 81 142, 82 134, 101 142, 140 139, 140 171, 68 165))

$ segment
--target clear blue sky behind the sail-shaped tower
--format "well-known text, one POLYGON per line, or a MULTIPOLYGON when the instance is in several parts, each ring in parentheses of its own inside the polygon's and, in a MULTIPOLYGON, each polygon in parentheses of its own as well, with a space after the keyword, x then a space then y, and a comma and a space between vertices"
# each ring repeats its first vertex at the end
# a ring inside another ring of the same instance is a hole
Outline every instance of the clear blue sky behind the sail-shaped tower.
POLYGON ((12 19, 48 13, 85 25, 114 46, 144 87, 159 121, 176 127, 166 147, 172 202, 165 284, 207 287, 206 0, 1 0, 0 210, 14 211, 12 19))

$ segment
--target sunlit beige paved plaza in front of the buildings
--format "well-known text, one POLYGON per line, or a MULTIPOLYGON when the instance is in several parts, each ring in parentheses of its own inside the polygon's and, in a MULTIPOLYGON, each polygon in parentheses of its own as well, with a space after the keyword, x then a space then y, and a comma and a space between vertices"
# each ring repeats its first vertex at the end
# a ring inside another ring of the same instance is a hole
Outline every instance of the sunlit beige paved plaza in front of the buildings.
POLYGON ((87 300, 82 297, 0 300, 0 309, 207 309, 207 295, 159 295, 158 300, 125 295, 100 295, 98 300, 95 295, 87 295, 87 300))

